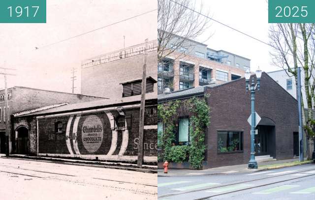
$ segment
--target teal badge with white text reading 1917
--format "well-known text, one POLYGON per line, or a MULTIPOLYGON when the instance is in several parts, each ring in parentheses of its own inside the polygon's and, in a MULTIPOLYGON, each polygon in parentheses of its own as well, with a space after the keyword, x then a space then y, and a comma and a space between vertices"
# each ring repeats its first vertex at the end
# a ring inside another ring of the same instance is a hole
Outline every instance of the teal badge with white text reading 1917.
POLYGON ((0 0, 0 23, 46 23, 46 0, 0 0))

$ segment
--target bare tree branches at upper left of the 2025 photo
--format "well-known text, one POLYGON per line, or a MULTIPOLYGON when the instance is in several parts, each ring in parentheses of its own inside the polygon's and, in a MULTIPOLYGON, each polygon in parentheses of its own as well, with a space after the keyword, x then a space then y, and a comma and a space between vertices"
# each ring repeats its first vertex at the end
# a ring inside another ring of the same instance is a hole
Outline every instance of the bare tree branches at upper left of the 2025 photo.
POLYGON ((194 45, 191 40, 209 28, 209 18, 199 13, 209 15, 194 0, 158 0, 158 61, 194 45))

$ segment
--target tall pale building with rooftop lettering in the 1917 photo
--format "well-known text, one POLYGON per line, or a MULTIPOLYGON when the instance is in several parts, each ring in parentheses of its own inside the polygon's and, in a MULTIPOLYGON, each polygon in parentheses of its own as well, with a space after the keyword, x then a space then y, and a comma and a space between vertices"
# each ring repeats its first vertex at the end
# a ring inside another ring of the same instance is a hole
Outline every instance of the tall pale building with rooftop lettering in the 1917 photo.
MULTIPOLYGON (((122 98, 120 84, 142 78, 145 44, 86 59, 82 62, 81 93, 122 98)), ((157 80, 157 41, 148 42, 147 76, 157 80)), ((155 85, 157 92, 157 86, 155 85)))

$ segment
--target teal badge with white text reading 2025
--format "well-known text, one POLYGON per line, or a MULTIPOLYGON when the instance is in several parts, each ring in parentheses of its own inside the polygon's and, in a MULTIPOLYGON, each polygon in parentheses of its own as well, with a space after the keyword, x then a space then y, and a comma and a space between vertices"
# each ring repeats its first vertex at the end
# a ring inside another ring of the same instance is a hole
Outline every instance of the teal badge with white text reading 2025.
POLYGON ((315 0, 268 0, 268 23, 315 23, 315 0))

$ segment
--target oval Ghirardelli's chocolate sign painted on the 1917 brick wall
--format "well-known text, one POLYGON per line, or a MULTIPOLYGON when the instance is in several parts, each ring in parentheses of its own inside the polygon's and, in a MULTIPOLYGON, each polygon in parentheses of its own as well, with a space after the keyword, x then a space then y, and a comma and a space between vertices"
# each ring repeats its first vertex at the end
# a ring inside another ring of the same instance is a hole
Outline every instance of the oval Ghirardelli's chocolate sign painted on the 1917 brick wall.
POLYGON ((88 116, 82 125, 82 143, 90 153, 98 150, 103 141, 103 124, 96 115, 88 116))

